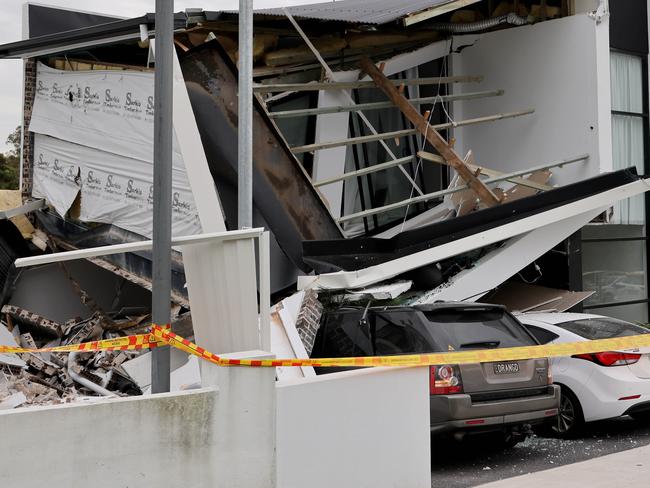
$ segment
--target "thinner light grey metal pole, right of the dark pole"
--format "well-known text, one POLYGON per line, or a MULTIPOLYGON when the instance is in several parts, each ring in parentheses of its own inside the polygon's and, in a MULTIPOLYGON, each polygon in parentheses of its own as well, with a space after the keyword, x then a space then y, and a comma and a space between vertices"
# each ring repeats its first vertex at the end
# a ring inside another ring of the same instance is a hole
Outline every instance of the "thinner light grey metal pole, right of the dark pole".
POLYGON ((237 222, 253 226, 253 0, 239 0, 237 222))

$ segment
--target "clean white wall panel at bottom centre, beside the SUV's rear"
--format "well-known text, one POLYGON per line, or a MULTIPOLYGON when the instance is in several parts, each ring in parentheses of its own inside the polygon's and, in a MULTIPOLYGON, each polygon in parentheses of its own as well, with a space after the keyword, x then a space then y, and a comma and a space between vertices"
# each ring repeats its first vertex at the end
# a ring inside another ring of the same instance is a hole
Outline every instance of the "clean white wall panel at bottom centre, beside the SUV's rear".
POLYGON ((277 384, 277 486, 429 488, 429 368, 277 384))

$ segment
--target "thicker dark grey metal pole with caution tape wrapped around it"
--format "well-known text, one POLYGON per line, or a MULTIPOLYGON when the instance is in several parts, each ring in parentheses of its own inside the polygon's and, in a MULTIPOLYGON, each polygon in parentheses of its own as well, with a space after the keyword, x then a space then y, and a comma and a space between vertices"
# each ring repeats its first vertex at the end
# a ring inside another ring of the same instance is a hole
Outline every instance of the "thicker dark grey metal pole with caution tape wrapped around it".
MULTIPOLYGON (((151 309, 153 323, 166 325, 171 320, 174 0, 156 0, 155 49, 151 309)), ((151 358, 151 392, 169 391, 169 346, 154 349, 151 358)))

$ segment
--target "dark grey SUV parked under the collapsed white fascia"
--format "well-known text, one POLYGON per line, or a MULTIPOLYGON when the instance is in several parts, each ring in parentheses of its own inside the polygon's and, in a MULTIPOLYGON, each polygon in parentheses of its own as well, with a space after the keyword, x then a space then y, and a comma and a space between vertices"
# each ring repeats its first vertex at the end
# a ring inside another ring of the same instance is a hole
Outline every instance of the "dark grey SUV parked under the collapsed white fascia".
MULTIPOLYGON (((343 307, 323 315, 313 358, 385 356, 537 345, 504 307, 437 303, 343 307)), ((332 372, 321 368, 320 373, 332 372)), ((508 444, 551 422, 560 390, 547 358, 430 367, 431 432, 501 431, 508 444)))

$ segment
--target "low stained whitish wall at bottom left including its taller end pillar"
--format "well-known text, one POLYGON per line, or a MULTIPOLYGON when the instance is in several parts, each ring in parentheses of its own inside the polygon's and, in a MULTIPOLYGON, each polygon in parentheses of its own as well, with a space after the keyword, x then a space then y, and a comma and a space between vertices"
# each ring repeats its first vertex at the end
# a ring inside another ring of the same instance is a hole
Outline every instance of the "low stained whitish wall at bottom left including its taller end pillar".
POLYGON ((0 486, 275 487, 273 369, 204 364, 218 390, 0 411, 0 486))

